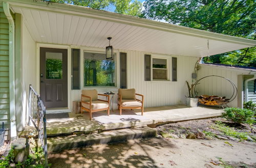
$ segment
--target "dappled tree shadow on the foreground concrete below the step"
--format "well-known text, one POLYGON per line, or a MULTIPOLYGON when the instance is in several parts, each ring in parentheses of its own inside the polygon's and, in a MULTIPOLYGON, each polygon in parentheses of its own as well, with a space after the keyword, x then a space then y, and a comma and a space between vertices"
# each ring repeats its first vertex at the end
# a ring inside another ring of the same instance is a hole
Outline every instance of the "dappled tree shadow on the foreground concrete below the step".
POLYGON ((119 144, 95 145, 49 155, 52 167, 158 167, 150 151, 176 148, 161 139, 138 139, 119 144), (139 153, 130 151, 139 150, 139 153))

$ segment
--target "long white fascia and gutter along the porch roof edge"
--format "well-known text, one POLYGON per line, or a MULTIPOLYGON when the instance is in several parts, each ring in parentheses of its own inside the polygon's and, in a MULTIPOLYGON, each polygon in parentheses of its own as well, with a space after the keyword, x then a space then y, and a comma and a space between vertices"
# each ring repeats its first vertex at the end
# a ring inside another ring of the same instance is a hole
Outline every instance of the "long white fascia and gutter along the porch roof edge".
POLYGON ((118 14, 114 12, 107 12, 102 10, 95 10, 87 7, 74 6, 68 4, 57 4, 47 2, 34 2, 33 0, 23 0, 21 3, 19 0, 8 0, 9 4, 13 7, 42 10, 54 13, 69 14, 74 16, 88 17, 93 19, 118 22, 122 24, 129 24, 134 26, 145 27, 148 29, 154 29, 165 32, 172 32, 187 36, 194 36, 205 38, 209 40, 224 41, 234 44, 246 45, 247 47, 253 47, 256 45, 256 40, 233 37, 218 33, 212 33, 203 30, 197 30, 185 26, 163 23, 159 21, 118 14))

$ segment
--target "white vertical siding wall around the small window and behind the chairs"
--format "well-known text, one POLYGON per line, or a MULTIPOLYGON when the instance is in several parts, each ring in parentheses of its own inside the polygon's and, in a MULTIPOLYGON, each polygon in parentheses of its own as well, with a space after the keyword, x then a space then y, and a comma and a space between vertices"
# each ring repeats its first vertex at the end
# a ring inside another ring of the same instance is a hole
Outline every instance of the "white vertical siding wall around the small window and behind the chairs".
MULTIPOLYGON (((169 58, 168 68, 170 70, 170 79, 172 79, 172 57, 178 58, 178 81, 144 81, 144 54, 148 53, 125 50, 122 50, 120 52, 127 53, 127 88, 135 88, 136 93, 144 95, 145 107, 176 105, 185 103, 185 95, 187 95, 188 93, 185 81, 188 80, 189 82, 191 82, 191 73, 194 72, 194 66, 198 58, 172 55, 156 55, 156 57, 169 58)), ((154 54, 151 55, 152 57, 155 57, 154 54)), ((119 60, 117 60, 117 66, 119 66, 119 60)), ((117 69, 119 70, 119 68, 117 69)), ((118 88, 97 90, 99 93, 104 93, 106 91, 114 91, 114 108, 117 108, 116 103, 118 88)), ((72 90, 71 102, 80 101, 80 99, 81 90, 72 90)))

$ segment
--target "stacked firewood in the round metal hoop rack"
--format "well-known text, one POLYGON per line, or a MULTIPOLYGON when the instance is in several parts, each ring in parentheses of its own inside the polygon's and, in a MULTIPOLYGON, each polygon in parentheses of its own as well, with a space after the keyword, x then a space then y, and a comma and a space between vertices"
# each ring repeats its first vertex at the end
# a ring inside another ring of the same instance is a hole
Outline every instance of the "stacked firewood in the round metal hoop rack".
POLYGON ((204 105, 221 105, 229 102, 229 99, 226 99, 225 96, 219 97, 219 96, 201 95, 198 98, 199 98, 198 101, 204 105))

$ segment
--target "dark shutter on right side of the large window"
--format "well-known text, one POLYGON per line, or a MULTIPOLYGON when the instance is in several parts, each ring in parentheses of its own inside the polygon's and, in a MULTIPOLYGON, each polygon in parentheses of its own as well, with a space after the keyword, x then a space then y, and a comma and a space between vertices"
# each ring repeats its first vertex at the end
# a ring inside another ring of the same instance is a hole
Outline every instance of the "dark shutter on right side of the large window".
POLYGON ((120 88, 127 89, 127 53, 120 52, 120 88))

